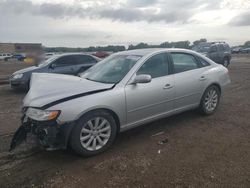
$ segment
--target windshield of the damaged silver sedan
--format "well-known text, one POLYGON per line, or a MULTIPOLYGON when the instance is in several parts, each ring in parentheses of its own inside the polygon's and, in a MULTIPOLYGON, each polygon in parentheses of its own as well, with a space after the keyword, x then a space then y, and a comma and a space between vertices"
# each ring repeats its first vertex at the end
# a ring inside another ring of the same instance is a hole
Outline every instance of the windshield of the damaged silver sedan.
POLYGON ((81 77, 102 83, 118 83, 141 58, 138 55, 113 55, 97 63, 81 77))

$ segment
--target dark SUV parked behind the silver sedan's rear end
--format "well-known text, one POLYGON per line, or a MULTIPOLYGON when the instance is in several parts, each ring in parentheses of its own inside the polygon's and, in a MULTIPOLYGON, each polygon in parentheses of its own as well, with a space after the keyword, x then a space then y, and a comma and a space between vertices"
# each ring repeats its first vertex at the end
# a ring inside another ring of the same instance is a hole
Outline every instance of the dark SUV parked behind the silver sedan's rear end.
POLYGON ((231 48, 225 42, 204 42, 193 47, 199 52, 218 64, 228 67, 231 61, 231 48))

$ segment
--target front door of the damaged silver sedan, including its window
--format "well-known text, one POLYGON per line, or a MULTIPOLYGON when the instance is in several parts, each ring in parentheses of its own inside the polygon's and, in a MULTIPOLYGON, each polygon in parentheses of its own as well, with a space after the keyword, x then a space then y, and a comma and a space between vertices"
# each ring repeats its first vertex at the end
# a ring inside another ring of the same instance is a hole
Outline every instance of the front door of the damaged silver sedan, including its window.
POLYGON ((169 70, 166 53, 154 55, 136 72, 136 75, 151 75, 151 82, 126 85, 128 124, 151 119, 173 110, 174 78, 169 70))

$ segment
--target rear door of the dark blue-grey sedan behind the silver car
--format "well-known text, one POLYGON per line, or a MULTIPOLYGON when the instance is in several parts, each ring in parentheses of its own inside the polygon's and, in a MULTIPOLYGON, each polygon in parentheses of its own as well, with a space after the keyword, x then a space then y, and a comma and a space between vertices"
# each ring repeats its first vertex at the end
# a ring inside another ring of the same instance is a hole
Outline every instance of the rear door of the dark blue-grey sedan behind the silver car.
POLYGON ((84 72, 97 62, 97 60, 90 55, 76 55, 75 58, 76 58, 76 68, 74 72, 75 75, 84 72))

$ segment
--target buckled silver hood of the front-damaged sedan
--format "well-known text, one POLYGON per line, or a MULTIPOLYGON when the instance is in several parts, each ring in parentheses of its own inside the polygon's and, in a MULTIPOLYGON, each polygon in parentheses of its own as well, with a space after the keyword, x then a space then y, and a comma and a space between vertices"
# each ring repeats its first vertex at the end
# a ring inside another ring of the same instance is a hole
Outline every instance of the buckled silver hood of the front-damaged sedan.
POLYGON ((55 101, 84 96, 111 89, 113 86, 114 84, 94 82, 71 75, 33 73, 30 90, 23 100, 23 106, 44 107, 55 101))

